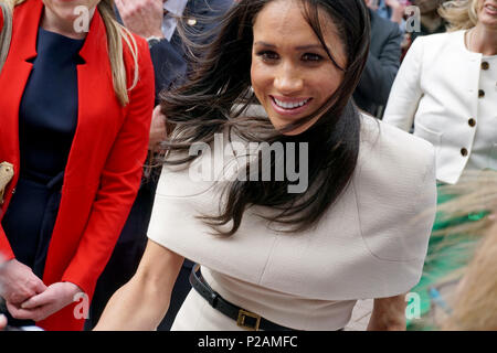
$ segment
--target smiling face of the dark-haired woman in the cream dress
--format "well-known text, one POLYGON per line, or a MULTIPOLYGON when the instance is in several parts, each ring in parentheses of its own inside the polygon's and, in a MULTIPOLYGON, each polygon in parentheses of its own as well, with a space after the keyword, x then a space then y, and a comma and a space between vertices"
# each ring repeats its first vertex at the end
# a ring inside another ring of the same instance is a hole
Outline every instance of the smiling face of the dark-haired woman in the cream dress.
MULTIPOLYGON (((303 15, 299 0, 274 0, 257 14, 252 49, 252 87, 276 129, 317 111, 337 90, 343 73, 328 57, 303 15)), ((322 35, 340 67, 347 56, 331 18, 321 11, 322 35)), ((319 116, 286 132, 298 135, 319 116)))

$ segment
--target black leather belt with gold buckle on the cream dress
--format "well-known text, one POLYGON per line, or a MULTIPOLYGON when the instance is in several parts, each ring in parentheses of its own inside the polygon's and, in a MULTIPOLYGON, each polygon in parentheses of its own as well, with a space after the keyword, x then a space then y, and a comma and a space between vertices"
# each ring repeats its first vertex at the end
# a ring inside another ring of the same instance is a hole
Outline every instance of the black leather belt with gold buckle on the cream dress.
POLYGON ((236 307, 235 304, 224 300, 202 277, 202 274, 200 272, 200 265, 198 264, 195 264, 191 269, 190 285, 199 292, 199 295, 205 298, 212 308, 235 320, 236 324, 241 328, 253 331, 296 331, 266 320, 254 312, 236 307))

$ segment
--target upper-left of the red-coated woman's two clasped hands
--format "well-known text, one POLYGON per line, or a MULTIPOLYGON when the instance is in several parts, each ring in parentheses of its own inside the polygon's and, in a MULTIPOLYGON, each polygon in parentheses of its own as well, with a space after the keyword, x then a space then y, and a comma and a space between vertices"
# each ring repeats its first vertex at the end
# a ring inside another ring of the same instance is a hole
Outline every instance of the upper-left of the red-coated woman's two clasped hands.
POLYGON ((12 304, 21 304, 46 289, 31 268, 17 259, 11 259, 1 267, 0 284, 0 296, 12 304))

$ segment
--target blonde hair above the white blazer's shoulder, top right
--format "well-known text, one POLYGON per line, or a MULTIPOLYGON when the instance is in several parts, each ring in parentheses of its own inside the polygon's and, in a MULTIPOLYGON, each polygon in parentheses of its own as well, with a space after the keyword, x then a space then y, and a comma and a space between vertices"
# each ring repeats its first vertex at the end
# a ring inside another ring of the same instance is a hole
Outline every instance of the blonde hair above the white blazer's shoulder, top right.
POLYGON ((448 22, 448 31, 468 30, 478 22, 479 0, 452 0, 444 2, 438 13, 448 22))

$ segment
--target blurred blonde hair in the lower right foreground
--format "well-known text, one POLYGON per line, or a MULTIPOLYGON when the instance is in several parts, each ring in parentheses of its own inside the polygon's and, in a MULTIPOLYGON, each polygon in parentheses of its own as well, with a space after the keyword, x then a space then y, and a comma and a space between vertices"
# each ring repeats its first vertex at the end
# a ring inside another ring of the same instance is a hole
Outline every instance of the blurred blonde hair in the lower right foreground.
POLYGON ((497 330, 497 223, 495 214, 490 216, 497 212, 497 172, 467 173, 456 185, 441 190, 459 196, 438 205, 440 212, 447 217, 479 214, 480 220, 450 227, 445 234, 474 235, 478 245, 461 271, 463 277, 451 303, 452 313, 438 324, 442 330, 497 330))

